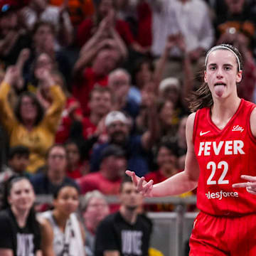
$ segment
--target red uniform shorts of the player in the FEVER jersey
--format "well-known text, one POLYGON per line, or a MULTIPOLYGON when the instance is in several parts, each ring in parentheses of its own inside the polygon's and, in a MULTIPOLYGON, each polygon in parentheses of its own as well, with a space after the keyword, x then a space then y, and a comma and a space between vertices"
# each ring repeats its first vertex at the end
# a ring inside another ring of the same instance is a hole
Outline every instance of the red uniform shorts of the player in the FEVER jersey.
POLYGON ((201 212, 189 245, 190 256, 256 256, 256 214, 230 218, 201 212))

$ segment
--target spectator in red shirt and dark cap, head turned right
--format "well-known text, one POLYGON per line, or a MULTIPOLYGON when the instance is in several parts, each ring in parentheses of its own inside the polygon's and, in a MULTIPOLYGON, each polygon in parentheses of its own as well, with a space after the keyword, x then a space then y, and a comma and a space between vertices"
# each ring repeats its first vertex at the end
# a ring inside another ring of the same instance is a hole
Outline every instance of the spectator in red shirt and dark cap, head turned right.
POLYGON ((125 152, 119 146, 107 146, 100 156, 100 170, 78 179, 81 193, 98 190, 105 195, 117 195, 126 169, 125 152))

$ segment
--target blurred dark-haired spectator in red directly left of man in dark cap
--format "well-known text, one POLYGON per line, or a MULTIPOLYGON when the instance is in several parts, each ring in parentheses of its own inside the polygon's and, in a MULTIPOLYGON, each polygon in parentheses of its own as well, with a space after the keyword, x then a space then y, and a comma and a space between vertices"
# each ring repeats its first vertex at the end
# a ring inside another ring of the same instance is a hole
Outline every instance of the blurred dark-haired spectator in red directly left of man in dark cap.
MULTIPOLYGON (((75 141, 69 140, 65 143, 67 151, 67 176, 73 179, 81 178, 86 171, 85 163, 82 162, 80 147, 75 141)), ((87 166, 89 168, 89 166, 87 166)))

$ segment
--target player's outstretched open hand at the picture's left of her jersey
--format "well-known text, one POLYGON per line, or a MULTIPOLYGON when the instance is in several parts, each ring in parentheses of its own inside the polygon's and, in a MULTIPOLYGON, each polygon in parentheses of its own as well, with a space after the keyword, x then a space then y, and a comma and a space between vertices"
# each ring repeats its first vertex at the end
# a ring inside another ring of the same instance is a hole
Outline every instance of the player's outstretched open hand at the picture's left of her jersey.
POLYGON ((152 195, 152 189, 153 189, 153 181, 150 180, 149 182, 145 181, 145 178, 139 178, 134 171, 125 171, 125 173, 132 178, 132 182, 137 188, 137 191, 139 193, 142 193, 142 196, 151 197, 152 195))

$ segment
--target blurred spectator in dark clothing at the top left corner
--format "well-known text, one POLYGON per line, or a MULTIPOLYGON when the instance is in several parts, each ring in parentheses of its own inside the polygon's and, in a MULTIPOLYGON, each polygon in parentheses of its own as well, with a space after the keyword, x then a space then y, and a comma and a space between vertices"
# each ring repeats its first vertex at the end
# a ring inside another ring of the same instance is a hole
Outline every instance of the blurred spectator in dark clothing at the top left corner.
POLYGON ((23 48, 31 45, 30 36, 18 20, 18 9, 14 1, 0 2, 0 59, 4 68, 14 65, 23 48))

